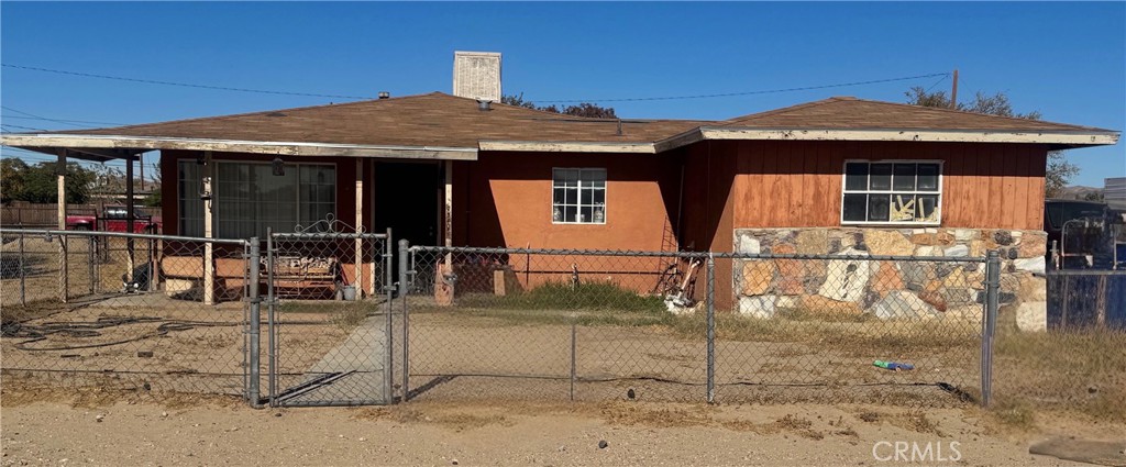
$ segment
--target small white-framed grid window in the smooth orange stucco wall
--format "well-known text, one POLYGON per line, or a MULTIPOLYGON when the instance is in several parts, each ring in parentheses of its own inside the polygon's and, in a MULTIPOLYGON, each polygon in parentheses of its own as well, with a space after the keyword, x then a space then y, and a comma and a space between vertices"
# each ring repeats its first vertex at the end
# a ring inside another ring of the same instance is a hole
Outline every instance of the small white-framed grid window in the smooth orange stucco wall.
POLYGON ((552 223, 606 224, 606 169, 552 169, 552 223))

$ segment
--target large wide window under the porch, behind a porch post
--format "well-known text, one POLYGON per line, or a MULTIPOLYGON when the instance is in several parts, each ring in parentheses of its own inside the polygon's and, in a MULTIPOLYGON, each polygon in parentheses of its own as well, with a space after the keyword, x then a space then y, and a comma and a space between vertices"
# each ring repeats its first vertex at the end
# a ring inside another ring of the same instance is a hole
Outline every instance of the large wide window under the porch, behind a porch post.
MULTIPOLYGON (((293 232, 336 214, 337 176, 333 164, 285 164, 275 176, 269 162, 214 161, 212 188, 215 237, 266 237, 293 232)), ((180 161, 179 225, 184 235, 203 236, 203 203, 199 200, 203 165, 180 161)))

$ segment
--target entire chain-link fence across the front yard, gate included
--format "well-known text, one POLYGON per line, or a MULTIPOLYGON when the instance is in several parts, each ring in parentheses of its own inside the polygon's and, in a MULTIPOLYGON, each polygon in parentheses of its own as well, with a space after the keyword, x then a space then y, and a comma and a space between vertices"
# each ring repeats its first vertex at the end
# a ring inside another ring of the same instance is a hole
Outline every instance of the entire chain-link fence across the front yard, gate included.
POLYGON ((230 394, 256 405, 935 406, 992 396, 1001 406, 1126 415, 1120 275, 1049 275, 1044 295, 1024 290, 1027 280, 1004 293, 995 252, 986 260, 400 244, 396 255, 390 232, 261 242, 0 236, 6 385, 230 394), (1046 303, 1044 332, 1013 323, 1037 306, 1029 299, 1046 303), (1063 299, 1065 315, 1056 311, 1063 299))

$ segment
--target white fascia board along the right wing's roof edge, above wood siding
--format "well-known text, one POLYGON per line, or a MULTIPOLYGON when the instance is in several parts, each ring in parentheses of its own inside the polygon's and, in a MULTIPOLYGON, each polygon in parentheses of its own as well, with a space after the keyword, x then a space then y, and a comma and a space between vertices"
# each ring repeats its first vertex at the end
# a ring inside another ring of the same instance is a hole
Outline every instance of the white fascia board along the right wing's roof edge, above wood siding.
POLYGON ((917 141, 957 143, 1040 143, 1098 146, 1118 143, 1118 132, 988 132, 968 129, 794 129, 700 127, 705 140, 917 141))

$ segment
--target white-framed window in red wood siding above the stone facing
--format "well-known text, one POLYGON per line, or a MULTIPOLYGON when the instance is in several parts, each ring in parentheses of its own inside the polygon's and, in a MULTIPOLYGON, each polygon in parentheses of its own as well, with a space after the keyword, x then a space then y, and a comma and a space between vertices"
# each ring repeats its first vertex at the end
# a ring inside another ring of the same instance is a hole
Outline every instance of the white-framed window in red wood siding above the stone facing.
POLYGON ((841 224, 939 225, 941 161, 846 161, 841 224))

